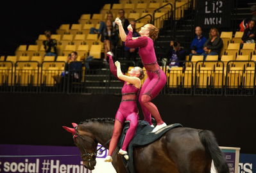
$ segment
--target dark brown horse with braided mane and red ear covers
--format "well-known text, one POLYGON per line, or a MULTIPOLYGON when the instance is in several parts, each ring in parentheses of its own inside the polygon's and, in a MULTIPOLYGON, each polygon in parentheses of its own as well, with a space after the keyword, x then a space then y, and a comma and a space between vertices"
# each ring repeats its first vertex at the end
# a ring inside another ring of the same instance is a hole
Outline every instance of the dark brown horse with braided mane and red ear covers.
MULTIPOLYGON (((107 149, 109 147, 114 119, 92 118, 72 124, 74 128, 63 128, 73 133, 84 167, 93 170, 98 143, 107 149)), ((118 151, 116 147, 112 165, 117 173, 126 173, 123 156, 118 151)), ((133 148, 133 164, 137 173, 210 173, 212 160, 218 173, 229 172, 218 142, 209 130, 173 128, 155 142, 133 148)))

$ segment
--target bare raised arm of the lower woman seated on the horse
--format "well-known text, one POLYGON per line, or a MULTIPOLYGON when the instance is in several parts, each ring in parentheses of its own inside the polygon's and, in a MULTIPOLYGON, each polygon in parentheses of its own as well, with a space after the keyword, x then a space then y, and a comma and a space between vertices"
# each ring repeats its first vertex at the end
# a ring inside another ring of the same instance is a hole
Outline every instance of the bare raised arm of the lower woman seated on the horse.
POLYGON ((118 61, 115 62, 115 66, 117 67, 117 77, 125 82, 133 84, 133 86, 140 88, 141 87, 141 79, 138 77, 129 77, 122 73, 121 65, 118 61))

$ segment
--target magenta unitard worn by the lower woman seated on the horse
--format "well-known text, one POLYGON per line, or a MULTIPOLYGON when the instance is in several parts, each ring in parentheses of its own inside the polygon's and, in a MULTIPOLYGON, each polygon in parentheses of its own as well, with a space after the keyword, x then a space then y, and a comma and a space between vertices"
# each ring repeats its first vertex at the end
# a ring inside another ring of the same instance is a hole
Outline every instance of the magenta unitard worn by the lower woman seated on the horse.
MULTIPOLYGON (((117 77, 117 68, 114 65, 112 56, 108 55, 108 57, 109 57, 110 71, 115 77, 117 77)), ((121 81, 124 82, 123 80, 121 81)), ((112 156, 112 153, 115 147, 117 146, 118 139, 123 129, 123 123, 126 120, 130 121, 130 127, 128 128, 124 138, 124 143, 122 146, 122 149, 124 151, 126 151, 128 144, 133 138, 133 135, 136 131, 136 128, 139 122, 139 116, 137 114, 138 108, 136 103, 138 94, 139 94, 139 88, 133 86, 132 84, 128 84, 127 82, 124 82, 124 86, 122 88, 122 100, 121 100, 119 109, 115 114, 114 130, 113 130, 113 135, 110 141, 110 146, 108 151, 109 156, 112 156)))

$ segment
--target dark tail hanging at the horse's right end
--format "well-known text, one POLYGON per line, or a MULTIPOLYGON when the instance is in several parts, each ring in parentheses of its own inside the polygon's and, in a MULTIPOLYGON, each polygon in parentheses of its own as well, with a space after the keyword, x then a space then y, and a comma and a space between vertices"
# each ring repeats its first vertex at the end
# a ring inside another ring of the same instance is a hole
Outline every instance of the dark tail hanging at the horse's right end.
POLYGON ((214 166, 217 172, 229 172, 228 164, 226 163, 221 149, 219 149, 219 145, 214 137, 214 134, 209 130, 202 130, 199 132, 199 136, 201 143, 205 146, 205 150, 210 154, 212 160, 214 161, 214 166))

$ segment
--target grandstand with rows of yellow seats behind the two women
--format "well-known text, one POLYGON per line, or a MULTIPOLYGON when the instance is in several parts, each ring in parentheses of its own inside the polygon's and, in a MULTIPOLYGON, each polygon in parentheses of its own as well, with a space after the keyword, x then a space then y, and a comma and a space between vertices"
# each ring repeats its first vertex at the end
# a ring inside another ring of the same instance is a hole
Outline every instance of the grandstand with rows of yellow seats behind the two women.
MULTIPOLYGON (((98 28, 99 22, 106 18, 107 11, 111 11, 115 18, 117 11, 124 9, 126 18, 137 21, 137 30, 147 23, 160 28, 155 51, 158 63, 167 75, 167 84, 162 93, 254 95, 255 43, 245 43, 242 48, 239 46, 243 33, 237 31, 237 22, 241 20, 237 5, 232 3, 230 8, 230 27, 219 28, 224 43, 219 58, 209 56, 203 61, 201 56, 193 56, 191 61, 185 62, 185 68, 168 70, 166 64, 169 62, 164 61, 168 57, 163 52, 170 40, 179 40, 183 47, 189 47, 194 27, 198 24, 196 10, 200 5, 192 0, 120 0, 119 3, 104 4, 98 13, 82 13, 77 23, 61 24, 56 29, 56 34, 52 35, 57 40, 56 61, 54 57, 44 57, 44 34, 38 35, 35 45, 19 45, 14 56, 1 56, 0 92, 119 93, 121 83, 110 75, 108 66, 101 61, 104 54, 103 43, 97 34, 89 34, 89 29, 98 28), (90 62, 90 70, 85 68, 83 62, 79 83, 67 77, 65 81, 71 84, 60 85, 55 77, 64 71, 65 57, 71 51, 78 52, 78 59, 92 56, 94 60, 90 62)), ((202 28, 206 34, 207 27, 202 28)), ((135 66, 134 62, 123 57, 122 45, 115 47, 114 53, 115 58, 121 61, 124 71, 135 66)))

